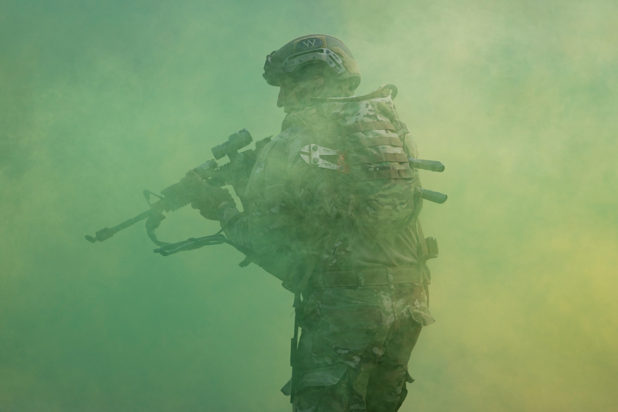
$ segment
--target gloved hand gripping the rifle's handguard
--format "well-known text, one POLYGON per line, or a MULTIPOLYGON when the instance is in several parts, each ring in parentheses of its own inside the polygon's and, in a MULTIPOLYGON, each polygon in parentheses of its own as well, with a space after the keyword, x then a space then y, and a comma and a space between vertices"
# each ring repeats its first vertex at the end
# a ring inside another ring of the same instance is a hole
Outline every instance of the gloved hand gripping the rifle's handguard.
POLYGON ((192 192, 191 207, 200 210, 200 215, 206 219, 219 220, 217 212, 225 205, 236 207, 236 202, 227 189, 208 184, 193 170, 187 172, 182 182, 192 192))

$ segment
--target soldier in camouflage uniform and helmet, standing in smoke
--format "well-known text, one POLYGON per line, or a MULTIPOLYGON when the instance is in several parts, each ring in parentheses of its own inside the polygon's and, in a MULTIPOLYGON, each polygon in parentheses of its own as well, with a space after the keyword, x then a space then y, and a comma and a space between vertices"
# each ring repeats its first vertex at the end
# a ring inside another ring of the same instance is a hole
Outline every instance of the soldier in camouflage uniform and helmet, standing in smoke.
POLYGON ((413 382, 410 353, 434 320, 420 181, 408 163, 416 147, 392 104, 396 88, 353 96, 358 64, 328 35, 290 41, 264 71, 286 118, 258 155, 249 207, 240 213, 214 187, 192 206, 295 293, 282 388, 293 411, 397 411, 413 382))

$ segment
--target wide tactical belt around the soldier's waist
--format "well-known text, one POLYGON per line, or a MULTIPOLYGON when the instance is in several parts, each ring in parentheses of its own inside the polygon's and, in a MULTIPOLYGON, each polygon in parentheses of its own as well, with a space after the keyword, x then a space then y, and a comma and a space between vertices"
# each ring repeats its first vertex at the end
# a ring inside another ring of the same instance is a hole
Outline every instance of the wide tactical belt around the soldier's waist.
POLYGON ((402 283, 423 283, 423 270, 418 266, 396 268, 366 268, 341 270, 324 268, 313 272, 310 286, 324 288, 362 288, 363 286, 400 285, 402 283))

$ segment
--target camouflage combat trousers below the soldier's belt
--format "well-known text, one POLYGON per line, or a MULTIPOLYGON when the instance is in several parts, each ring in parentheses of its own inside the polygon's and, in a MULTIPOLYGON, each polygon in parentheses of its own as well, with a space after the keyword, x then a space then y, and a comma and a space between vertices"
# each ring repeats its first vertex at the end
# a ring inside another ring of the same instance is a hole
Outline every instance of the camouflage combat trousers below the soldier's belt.
POLYGON ((294 411, 396 411, 426 314, 423 285, 313 290, 302 307, 294 411), (416 312, 416 313, 415 313, 416 312), (422 319, 422 318, 421 318, 422 319))

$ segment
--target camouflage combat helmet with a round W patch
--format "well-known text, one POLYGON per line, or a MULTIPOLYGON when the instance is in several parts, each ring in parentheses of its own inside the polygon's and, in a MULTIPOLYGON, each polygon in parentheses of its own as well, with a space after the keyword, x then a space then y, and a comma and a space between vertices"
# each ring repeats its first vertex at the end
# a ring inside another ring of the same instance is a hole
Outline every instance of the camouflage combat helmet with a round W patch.
POLYGON ((278 86, 279 75, 290 74, 303 64, 316 60, 326 62, 339 79, 357 77, 360 83, 360 69, 350 49, 338 38, 321 34, 295 38, 268 54, 263 77, 269 85, 278 86))

